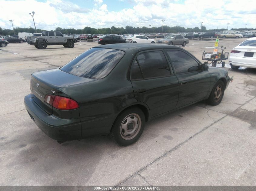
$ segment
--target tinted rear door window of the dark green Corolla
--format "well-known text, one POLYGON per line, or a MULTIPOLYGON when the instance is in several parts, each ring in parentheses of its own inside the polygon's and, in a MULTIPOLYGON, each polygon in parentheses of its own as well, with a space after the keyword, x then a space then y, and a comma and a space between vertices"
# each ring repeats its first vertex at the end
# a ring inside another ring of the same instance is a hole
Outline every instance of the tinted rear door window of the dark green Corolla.
POLYGON ((139 70, 141 69, 143 78, 161 78, 171 75, 169 65, 165 59, 165 55, 162 51, 152 51, 141 53, 137 56, 136 63, 132 66, 131 79, 138 79, 139 70), (136 75, 133 74, 133 71, 137 71, 136 75), (134 75, 136 77, 134 77, 134 75))

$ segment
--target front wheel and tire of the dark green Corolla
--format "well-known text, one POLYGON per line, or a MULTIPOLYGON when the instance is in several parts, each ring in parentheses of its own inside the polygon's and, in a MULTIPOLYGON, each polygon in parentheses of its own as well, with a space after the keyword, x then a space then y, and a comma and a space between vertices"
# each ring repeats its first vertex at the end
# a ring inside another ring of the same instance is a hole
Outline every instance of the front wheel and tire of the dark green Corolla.
POLYGON ((220 104, 224 95, 224 91, 225 91, 225 85, 223 81, 221 80, 217 81, 214 87, 212 88, 211 94, 208 97, 206 102, 209 105, 213 105, 213 106, 220 104))

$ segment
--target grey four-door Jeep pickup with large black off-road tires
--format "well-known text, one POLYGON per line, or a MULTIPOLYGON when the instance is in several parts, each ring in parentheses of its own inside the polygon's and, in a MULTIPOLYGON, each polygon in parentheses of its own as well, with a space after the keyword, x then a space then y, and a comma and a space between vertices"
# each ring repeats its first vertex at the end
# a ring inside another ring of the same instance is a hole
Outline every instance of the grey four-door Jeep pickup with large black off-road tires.
POLYGON ((66 48, 75 46, 74 37, 64 37, 61 32, 43 31, 42 36, 30 36, 27 43, 34 45, 38 49, 46 49, 47 45, 63 45, 66 48))

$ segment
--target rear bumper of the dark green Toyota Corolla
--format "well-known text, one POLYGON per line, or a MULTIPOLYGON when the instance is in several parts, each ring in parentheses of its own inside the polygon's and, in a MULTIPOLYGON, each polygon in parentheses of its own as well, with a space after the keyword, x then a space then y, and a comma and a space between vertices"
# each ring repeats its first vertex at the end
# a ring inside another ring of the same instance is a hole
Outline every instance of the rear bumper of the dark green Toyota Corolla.
POLYGON ((61 119, 49 115, 33 100, 33 95, 24 98, 25 108, 31 119, 50 138, 57 141, 69 141, 81 138, 81 122, 74 119, 61 119))

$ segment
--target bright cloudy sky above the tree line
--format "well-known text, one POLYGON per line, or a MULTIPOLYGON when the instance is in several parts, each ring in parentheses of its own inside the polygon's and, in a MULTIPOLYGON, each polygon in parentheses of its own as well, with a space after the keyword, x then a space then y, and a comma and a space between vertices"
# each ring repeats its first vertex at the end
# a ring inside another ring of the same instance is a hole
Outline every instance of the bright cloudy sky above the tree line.
MULTIPOLYGON (((117 7, 119 1, 116 1, 117 7)), ((256 9, 255 6, 250 6, 254 5, 254 0, 244 0, 243 3, 241 0, 215 0, 214 5, 205 0, 133 0, 132 8, 119 11, 109 11, 108 4, 103 0, 93 2, 97 6, 88 9, 68 0, 0 0, 1 7, 12 7, 1 9, 0 26, 12 29, 9 20, 14 19, 14 27, 33 27, 33 20, 28 13, 35 11, 36 27, 45 30, 54 30, 56 27, 82 29, 86 26, 148 27, 149 24, 151 27, 159 27, 161 19, 165 19, 164 25, 167 26, 194 28, 200 27, 200 22, 203 21, 207 29, 217 26, 226 28, 227 23, 230 23, 229 29, 245 27, 244 24, 247 24, 247 28, 256 27, 256 20, 252 19, 256 17, 256 9)))

